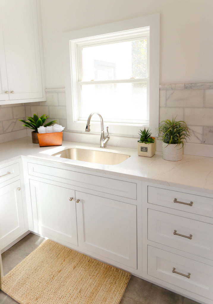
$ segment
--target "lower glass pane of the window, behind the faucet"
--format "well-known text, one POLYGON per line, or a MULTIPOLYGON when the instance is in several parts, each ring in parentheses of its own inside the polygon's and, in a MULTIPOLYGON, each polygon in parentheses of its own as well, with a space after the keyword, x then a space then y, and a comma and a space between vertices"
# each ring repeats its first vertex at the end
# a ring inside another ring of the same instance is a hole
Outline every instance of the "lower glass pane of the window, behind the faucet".
POLYGON ((99 112, 105 122, 148 120, 145 82, 82 85, 81 89, 81 117, 87 118, 90 113, 99 112))

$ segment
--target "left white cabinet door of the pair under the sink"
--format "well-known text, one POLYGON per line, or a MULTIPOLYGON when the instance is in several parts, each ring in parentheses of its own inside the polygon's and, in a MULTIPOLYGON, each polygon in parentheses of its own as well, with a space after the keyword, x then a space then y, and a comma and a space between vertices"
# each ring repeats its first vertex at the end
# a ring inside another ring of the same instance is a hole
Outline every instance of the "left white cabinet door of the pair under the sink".
POLYGON ((30 193, 34 232, 59 243, 78 245, 75 191, 30 180, 30 193))

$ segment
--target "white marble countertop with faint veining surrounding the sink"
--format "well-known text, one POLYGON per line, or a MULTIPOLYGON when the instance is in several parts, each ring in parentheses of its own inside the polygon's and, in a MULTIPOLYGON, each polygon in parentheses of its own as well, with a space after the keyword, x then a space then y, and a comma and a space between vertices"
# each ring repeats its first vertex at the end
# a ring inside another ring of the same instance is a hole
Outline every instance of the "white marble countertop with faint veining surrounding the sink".
POLYGON ((72 168, 100 173, 107 172, 116 176, 122 175, 141 181, 213 194, 213 157, 183 155, 182 161, 165 161, 162 159, 161 152, 156 152, 151 158, 141 157, 138 156, 137 149, 112 146, 102 149, 98 144, 63 141, 62 146, 39 147, 38 144, 32 143, 31 137, 24 137, 0 144, 1 165, 11 158, 16 158, 20 155, 62 163, 72 168), (121 164, 103 165, 51 156, 65 147, 87 147, 109 152, 113 150, 129 154, 131 157, 121 164))

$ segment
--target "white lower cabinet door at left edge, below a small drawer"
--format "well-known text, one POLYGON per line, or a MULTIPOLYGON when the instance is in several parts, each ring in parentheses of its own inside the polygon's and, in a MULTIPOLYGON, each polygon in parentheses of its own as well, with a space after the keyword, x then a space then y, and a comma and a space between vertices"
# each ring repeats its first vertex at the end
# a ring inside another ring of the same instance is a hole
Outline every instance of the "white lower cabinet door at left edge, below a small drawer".
POLYGON ((25 229, 20 181, 0 188, 0 248, 23 234, 25 229))

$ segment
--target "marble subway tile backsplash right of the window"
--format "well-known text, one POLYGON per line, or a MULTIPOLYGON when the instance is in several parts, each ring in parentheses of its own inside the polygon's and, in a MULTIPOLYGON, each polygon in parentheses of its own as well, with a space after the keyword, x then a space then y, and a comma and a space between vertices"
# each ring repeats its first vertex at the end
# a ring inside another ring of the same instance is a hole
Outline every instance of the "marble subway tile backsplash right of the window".
POLYGON ((184 120, 189 143, 213 145, 213 83, 160 85, 159 121, 184 120))

